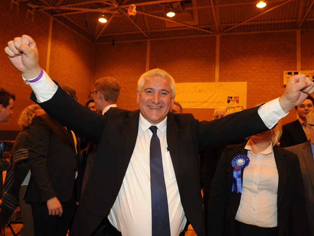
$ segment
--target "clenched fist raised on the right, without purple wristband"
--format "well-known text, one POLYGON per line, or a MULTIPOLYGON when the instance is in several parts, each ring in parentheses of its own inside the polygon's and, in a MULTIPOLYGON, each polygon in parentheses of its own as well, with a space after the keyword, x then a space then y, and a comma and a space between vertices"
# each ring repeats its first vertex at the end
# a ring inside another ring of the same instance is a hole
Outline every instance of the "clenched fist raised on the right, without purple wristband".
POLYGON ((300 105, 308 95, 314 93, 314 83, 305 75, 291 76, 279 104, 285 113, 300 105))

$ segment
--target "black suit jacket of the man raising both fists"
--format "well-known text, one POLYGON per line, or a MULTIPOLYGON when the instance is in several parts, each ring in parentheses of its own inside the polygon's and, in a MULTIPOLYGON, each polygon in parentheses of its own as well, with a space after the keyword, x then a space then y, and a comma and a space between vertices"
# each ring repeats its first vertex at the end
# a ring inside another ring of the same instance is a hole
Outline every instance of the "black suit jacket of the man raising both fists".
MULTIPOLYGON (((31 98, 36 101, 35 94, 31 98)), ((96 114, 58 88, 40 104, 48 114, 88 140, 99 143, 93 171, 82 194, 71 235, 90 235, 116 200, 138 135, 139 111, 111 108, 96 114)), ((167 144, 184 212, 198 236, 205 235, 199 149, 230 143, 267 130, 257 107, 214 121, 169 113, 167 144), (248 127, 243 129, 241 127, 248 127)))

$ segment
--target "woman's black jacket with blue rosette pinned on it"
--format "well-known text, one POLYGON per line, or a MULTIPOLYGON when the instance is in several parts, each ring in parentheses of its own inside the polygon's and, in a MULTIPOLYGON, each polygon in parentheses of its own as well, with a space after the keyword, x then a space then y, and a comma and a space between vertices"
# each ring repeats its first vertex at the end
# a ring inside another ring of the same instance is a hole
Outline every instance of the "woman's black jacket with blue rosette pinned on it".
MULTIPOLYGON (((222 154, 209 197, 208 235, 232 236, 241 193, 232 192, 231 160, 239 154, 247 155, 246 143, 227 146, 222 154)), ((308 235, 304 185, 297 156, 275 145, 273 147, 278 170, 277 223, 278 235, 308 235)), ((241 181, 243 180, 241 170, 241 181)), ((243 183, 243 181, 242 181, 243 183)))

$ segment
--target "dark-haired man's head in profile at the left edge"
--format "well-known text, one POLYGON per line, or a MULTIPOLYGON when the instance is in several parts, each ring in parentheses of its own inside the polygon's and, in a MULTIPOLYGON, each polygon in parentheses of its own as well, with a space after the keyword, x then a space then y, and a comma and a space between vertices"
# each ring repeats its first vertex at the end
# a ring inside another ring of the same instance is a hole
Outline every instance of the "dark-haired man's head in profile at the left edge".
POLYGON ((10 116, 13 114, 14 101, 15 95, 13 93, 0 88, 0 123, 9 121, 10 116))

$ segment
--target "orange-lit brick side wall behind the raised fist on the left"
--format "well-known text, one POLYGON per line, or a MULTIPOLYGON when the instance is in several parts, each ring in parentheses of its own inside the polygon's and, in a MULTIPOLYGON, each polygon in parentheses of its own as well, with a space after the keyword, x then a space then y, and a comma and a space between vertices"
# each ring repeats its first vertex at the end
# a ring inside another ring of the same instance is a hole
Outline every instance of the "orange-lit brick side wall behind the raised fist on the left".
MULTIPOLYGON (((33 20, 32 14, 27 17, 25 3, 20 3, 19 6, 13 3, 11 9, 10 1, 1 3, 0 15, 0 86, 16 95, 14 114, 8 122, 0 124, 0 129, 20 130, 17 124, 19 115, 26 106, 34 103, 30 100, 30 87, 22 81, 21 74, 9 62, 4 48, 14 37, 30 35, 37 44, 40 65, 46 70, 50 18, 41 12, 35 12, 33 20)), ((53 21, 49 75, 60 84, 73 86, 78 102, 84 105, 92 84, 93 51, 94 43, 53 21)))

